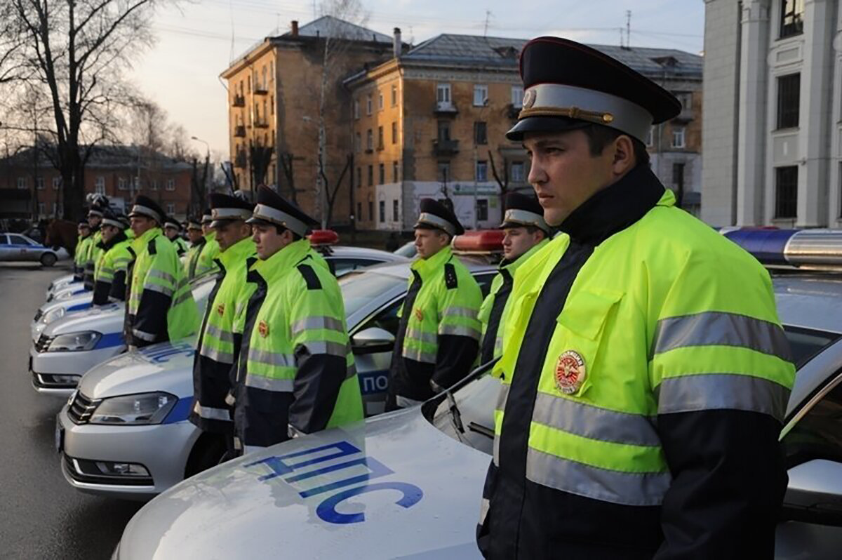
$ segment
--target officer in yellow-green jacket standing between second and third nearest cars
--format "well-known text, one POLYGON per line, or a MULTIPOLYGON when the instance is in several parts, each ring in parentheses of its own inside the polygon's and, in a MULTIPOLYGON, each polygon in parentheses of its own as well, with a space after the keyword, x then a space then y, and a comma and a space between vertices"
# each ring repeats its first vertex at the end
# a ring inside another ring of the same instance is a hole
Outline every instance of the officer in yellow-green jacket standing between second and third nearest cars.
POLYGON ((139 195, 129 218, 137 256, 131 271, 131 296, 125 307, 126 344, 141 348, 195 333, 199 312, 173 243, 161 231, 161 207, 139 195))

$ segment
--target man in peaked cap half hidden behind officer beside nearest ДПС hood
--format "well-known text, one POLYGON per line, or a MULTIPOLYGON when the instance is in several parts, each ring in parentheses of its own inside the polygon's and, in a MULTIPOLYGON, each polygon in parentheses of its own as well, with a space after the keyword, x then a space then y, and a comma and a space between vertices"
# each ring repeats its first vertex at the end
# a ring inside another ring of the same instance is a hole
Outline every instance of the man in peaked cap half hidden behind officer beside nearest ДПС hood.
POLYGON ((232 392, 231 369, 242 345, 242 330, 235 327, 235 319, 257 287, 247 280, 248 266, 257 260, 252 228, 246 223, 253 207, 231 195, 210 195, 220 275, 208 297, 193 362, 190 422, 202 431, 222 435, 229 457, 234 454, 234 423, 226 397, 232 392))

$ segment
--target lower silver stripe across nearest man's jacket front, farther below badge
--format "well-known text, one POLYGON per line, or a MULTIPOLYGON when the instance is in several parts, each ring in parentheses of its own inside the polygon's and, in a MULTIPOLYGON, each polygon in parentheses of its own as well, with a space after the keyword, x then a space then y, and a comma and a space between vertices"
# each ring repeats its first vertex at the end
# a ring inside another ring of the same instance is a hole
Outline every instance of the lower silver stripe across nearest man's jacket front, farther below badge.
POLYGON ((669 472, 621 472, 562 459, 533 448, 526 453, 533 483, 612 504, 660 505, 672 483, 669 472))

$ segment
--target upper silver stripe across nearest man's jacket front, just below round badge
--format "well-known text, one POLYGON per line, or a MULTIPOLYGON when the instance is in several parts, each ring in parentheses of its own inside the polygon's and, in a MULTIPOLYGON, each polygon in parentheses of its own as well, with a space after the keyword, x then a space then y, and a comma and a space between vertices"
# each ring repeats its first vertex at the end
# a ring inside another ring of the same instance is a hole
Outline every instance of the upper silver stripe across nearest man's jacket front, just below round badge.
POLYGON ((539 391, 532 421, 591 440, 627 445, 660 446, 653 419, 556 397, 539 391))

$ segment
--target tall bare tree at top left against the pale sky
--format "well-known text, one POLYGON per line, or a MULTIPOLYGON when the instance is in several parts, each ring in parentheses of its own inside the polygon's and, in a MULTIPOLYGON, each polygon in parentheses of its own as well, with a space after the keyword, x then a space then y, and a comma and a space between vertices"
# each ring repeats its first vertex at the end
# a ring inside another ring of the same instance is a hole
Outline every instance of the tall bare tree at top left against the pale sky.
POLYGON ((16 56, 43 88, 65 215, 80 216, 84 168, 97 144, 117 140, 134 92, 122 72, 152 44, 153 9, 165 0, 8 0, 24 34, 16 56))

